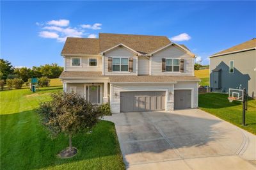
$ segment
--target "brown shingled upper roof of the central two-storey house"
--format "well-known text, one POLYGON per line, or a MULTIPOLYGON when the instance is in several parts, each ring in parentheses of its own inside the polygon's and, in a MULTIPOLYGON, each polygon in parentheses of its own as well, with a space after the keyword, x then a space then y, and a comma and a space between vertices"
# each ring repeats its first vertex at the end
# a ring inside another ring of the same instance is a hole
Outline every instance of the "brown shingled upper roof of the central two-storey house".
POLYGON ((110 49, 120 43, 140 52, 141 54, 148 54, 168 45, 171 42, 166 36, 99 33, 99 38, 68 37, 61 54, 97 55, 100 52, 110 49))

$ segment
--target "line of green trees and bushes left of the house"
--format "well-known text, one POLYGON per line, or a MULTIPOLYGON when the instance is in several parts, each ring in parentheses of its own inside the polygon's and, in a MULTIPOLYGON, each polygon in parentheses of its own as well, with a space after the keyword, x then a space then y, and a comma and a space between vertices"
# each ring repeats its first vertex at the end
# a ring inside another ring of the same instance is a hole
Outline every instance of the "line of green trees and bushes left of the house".
POLYGON ((3 89, 4 84, 9 89, 12 87, 21 88, 22 84, 28 82, 32 77, 41 78, 42 80, 48 79, 49 82, 49 79, 58 78, 61 72, 63 72, 63 67, 56 63, 33 66, 32 68, 15 68, 10 61, 0 59, 0 86, 1 89, 3 89))

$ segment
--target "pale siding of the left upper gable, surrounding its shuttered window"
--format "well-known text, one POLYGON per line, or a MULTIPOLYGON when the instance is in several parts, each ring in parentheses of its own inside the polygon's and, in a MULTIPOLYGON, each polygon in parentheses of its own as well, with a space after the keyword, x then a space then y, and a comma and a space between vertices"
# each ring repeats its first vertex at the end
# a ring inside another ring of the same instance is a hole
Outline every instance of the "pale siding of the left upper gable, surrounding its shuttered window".
POLYGON ((105 53, 104 56, 104 73, 105 75, 137 75, 137 62, 138 58, 136 54, 131 52, 128 49, 125 49, 124 47, 117 47, 116 49, 113 49, 109 52, 105 53), (127 58, 133 58, 133 70, 132 72, 108 72, 108 58, 115 58, 115 57, 127 57, 127 58))

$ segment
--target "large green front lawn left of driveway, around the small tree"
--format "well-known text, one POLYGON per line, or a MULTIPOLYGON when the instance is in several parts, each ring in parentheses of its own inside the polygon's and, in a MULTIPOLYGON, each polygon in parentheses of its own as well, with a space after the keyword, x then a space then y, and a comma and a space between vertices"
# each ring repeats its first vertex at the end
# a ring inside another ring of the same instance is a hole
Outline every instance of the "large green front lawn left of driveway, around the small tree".
POLYGON ((78 153, 73 158, 56 155, 68 146, 61 134, 51 139, 40 125, 35 109, 61 87, 1 91, 1 169, 124 169, 115 125, 100 121, 92 134, 72 139, 78 153))

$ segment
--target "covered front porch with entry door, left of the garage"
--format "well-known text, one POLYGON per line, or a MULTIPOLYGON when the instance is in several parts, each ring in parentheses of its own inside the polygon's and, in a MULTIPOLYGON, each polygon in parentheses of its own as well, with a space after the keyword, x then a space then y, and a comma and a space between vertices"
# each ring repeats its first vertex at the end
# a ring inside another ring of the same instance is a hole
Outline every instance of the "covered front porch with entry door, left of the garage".
POLYGON ((63 80, 63 90, 83 96, 92 104, 103 104, 109 102, 109 80, 108 79, 83 79, 63 80))

